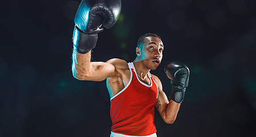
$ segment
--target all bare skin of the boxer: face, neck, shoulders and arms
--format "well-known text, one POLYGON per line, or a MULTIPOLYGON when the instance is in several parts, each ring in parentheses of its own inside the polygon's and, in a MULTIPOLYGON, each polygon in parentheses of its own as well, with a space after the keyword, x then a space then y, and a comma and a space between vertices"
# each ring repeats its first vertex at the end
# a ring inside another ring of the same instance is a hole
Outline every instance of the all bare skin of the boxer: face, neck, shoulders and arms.
MULTIPOLYGON (((163 58, 163 42, 156 37, 146 37, 142 46, 136 47, 137 57, 133 61, 138 78, 145 84, 151 84, 147 73, 156 70, 163 58), (153 61, 159 61, 155 63, 153 61)), ((116 95, 129 82, 131 72, 128 63, 123 59, 109 59, 107 62, 90 62, 91 53, 79 54, 73 51, 73 76, 79 80, 102 81, 107 79, 109 95, 116 95)), ((167 99, 163 92, 162 83, 157 76, 152 75, 155 80, 159 95, 156 101, 156 109, 162 116, 164 122, 174 123, 178 114, 180 103, 167 99)))

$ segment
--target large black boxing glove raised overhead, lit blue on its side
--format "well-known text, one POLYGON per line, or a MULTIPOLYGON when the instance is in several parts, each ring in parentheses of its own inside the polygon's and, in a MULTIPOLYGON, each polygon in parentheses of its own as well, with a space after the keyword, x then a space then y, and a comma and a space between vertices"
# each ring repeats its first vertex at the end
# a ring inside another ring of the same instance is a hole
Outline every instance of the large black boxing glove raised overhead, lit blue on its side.
POLYGON ((82 0, 74 17, 73 47, 80 54, 96 46, 103 27, 109 29, 119 17, 121 0, 82 0))

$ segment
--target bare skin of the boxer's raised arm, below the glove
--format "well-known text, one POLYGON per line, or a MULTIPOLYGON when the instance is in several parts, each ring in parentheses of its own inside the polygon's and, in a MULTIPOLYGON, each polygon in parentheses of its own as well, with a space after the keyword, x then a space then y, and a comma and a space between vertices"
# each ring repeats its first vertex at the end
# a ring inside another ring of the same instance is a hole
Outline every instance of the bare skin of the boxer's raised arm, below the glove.
POLYGON ((90 62, 91 52, 79 54, 73 50, 72 72, 79 80, 102 81, 116 74, 115 66, 106 62, 90 62))

